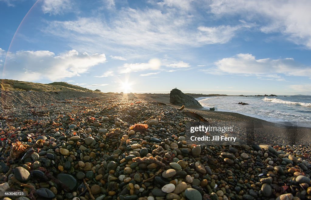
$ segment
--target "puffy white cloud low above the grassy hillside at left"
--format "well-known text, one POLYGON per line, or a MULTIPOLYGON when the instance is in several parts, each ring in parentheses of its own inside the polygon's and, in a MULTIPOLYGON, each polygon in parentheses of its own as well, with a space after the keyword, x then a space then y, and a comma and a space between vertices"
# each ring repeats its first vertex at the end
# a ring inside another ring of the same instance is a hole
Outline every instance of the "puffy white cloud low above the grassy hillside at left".
POLYGON ((89 55, 76 50, 60 55, 51 51, 8 52, 3 77, 21 81, 58 81, 87 73, 91 67, 105 61, 105 54, 89 55))

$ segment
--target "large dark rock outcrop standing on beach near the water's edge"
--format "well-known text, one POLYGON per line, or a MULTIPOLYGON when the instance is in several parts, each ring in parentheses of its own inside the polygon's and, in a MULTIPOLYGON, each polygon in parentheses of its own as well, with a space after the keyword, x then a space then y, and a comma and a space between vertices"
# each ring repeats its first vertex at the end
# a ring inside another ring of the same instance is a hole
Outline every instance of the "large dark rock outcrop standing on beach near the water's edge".
POLYGON ((202 105, 195 100, 192 96, 188 96, 184 94, 179 89, 173 89, 169 93, 169 102, 174 105, 185 105, 185 106, 191 106, 191 107, 202 107, 202 105))

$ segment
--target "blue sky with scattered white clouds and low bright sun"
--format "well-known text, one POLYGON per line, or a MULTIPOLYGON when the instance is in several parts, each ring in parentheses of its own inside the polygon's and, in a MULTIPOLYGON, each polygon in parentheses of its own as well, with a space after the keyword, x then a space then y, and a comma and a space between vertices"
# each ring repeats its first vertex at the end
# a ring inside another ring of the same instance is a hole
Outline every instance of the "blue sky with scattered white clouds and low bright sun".
POLYGON ((0 78, 311 95, 310 10, 310 0, 0 0, 0 78))

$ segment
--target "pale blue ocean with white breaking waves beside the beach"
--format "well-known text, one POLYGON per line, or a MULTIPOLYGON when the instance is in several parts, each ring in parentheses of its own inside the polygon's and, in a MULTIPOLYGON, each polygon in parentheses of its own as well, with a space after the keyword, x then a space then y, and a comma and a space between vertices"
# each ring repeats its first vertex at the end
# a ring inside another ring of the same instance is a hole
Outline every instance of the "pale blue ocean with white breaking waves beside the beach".
POLYGON ((311 125, 311 96, 215 96, 196 100, 204 108, 215 107, 216 111, 240 113, 269 122, 310 122, 311 125))

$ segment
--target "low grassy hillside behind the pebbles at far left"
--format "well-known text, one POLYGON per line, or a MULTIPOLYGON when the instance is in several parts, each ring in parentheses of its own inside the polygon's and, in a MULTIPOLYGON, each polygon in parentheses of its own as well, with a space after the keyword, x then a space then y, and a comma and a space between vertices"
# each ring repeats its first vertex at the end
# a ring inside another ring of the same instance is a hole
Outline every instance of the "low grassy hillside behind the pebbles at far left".
POLYGON ((10 79, 0 79, 0 88, 5 91, 79 91, 79 92, 93 92, 90 89, 69 84, 67 82, 53 82, 48 84, 16 81, 10 79))

